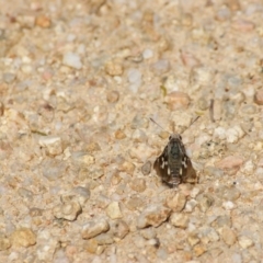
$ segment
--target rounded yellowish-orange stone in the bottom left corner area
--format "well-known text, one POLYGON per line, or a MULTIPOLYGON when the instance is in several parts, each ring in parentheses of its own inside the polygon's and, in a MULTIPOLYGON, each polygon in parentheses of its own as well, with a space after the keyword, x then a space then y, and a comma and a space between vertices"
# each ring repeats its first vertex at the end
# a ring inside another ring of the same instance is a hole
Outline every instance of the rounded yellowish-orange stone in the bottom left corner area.
POLYGON ((30 228, 19 228, 10 237, 12 245, 28 248, 36 243, 36 235, 30 228))

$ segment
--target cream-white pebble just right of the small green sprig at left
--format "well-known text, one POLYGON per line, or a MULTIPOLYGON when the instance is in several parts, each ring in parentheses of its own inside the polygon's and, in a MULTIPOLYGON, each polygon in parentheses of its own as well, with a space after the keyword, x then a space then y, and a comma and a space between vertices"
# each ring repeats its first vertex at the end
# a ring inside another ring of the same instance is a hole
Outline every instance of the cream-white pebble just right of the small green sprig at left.
POLYGON ((62 153, 62 140, 59 136, 43 136, 38 139, 38 144, 47 149, 52 156, 62 153))

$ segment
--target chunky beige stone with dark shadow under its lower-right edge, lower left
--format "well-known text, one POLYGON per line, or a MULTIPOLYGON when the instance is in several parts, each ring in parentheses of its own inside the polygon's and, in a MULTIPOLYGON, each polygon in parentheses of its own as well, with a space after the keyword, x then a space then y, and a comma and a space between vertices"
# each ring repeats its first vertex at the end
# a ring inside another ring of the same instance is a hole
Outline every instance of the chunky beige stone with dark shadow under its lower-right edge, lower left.
POLYGON ((78 215, 81 214, 81 211, 82 208, 80 204, 76 201, 62 203, 53 208, 53 214, 56 218, 62 218, 69 221, 76 220, 78 215))

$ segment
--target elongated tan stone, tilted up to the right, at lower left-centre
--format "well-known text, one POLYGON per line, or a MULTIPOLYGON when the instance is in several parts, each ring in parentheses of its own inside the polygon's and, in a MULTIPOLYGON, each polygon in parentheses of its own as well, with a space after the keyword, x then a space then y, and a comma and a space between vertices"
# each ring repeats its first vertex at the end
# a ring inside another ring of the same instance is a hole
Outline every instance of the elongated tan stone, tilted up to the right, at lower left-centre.
POLYGON ((110 225, 105 219, 95 219, 82 227, 81 237, 82 239, 94 238, 102 232, 108 231, 108 229, 110 225))

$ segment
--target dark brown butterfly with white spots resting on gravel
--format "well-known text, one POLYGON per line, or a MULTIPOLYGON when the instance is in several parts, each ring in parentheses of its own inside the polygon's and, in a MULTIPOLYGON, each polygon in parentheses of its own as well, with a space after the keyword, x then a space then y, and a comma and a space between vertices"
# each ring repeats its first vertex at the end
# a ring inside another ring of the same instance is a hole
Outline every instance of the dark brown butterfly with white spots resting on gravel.
POLYGON ((169 137, 163 152, 153 163, 153 169, 161 180, 171 187, 175 187, 180 183, 195 183, 198 180, 179 134, 172 134, 169 137))

